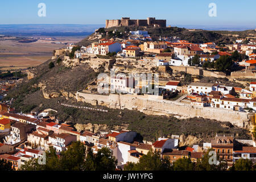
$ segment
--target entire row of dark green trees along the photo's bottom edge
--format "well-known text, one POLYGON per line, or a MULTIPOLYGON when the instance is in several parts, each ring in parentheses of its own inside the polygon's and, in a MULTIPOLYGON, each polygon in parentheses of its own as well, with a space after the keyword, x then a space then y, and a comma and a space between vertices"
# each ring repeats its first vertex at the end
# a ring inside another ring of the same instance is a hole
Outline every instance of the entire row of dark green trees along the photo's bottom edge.
MULTIPOLYGON (((138 163, 128 162, 124 167, 125 171, 225 171, 228 168, 227 162, 217 156, 218 164, 209 164, 208 150, 203 158, 192 162, 190 158, 180 158, 171 163, 170 158, 160 158, 156 152, 148 152, 143 155, 138 163)), ((0 161, 1 164, 1 161, 0 161)), ((10 164, 7 164, 7 166, 10 164)), ((31 159, 26 162, 21 170, 28 171, 114 171, 117 159, 108 148, 102 148, 93 154, 92 150, 86 150, 86 146, 81 142, 73 142, 67 151, 56 155, 56 151, 50 148, 46 152, 46 164, 38 164, 38 159, 31 159)), ((1 167, 2 165, 0 165, 1 167)), ((10 168, 10 167, 7 167, 10 168)), ((0 168, 1 169, 1 168, 0 168)), ((256 166, 248 159, 239 159, 229 170, 253 171, 256 166)))

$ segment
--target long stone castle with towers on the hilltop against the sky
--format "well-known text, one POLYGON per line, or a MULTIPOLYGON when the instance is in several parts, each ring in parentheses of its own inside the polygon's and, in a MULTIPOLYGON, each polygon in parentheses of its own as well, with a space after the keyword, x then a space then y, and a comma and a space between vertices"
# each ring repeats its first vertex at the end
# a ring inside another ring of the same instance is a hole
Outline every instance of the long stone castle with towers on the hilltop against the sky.
POLYGON ((122 18, 122 19, 113 19, 113 20, 107 19, 106 20, 106 28, 119 27, 119 26, 166 27, 166 19, 155 19, 155 18, 130 19, 130 18, 122 18))

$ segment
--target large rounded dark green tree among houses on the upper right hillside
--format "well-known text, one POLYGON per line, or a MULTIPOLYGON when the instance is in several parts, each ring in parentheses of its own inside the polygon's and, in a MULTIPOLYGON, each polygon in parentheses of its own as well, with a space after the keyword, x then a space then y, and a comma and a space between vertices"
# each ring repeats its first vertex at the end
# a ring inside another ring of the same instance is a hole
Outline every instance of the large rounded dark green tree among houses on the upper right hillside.
POLYGON ((214 68, 217 71, 226 72, 233 67, 234 63, 232 61, 232 57, 225 55, 221 56, 214 63, 214 68))

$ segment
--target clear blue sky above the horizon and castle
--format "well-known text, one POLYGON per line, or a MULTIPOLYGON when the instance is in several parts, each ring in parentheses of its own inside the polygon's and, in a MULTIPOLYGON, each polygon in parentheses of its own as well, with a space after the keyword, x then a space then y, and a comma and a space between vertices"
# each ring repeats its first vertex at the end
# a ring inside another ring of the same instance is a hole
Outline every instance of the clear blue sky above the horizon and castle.
POLYGON ((167 24, 255 26, 256 1, 243 0, 9 0, 0 6, 0 24, 105 24, 105 19, 167 19, 167 24), (38 4, 46 4, 46 17, 38 16, 38 4), (209 17, 208 5, 216 3, 217 17, 209 17))

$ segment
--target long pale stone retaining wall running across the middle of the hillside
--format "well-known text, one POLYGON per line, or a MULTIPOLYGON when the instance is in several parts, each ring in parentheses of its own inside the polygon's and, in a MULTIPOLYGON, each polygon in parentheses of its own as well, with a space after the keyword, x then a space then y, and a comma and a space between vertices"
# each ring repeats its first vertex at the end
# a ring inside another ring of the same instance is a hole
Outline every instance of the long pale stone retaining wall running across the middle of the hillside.
POLYGON ((230 122, 233 125, 250 129, 249 114, 213 107, 200 107, 174 101, 152 98, 152 96, 134 96, 109 94, 108 96, 77 92, 77 100, 105 105, 113 109, 138 110, 150 115, 181 115, 184 117, 203 117, 217 121, 230 122))

